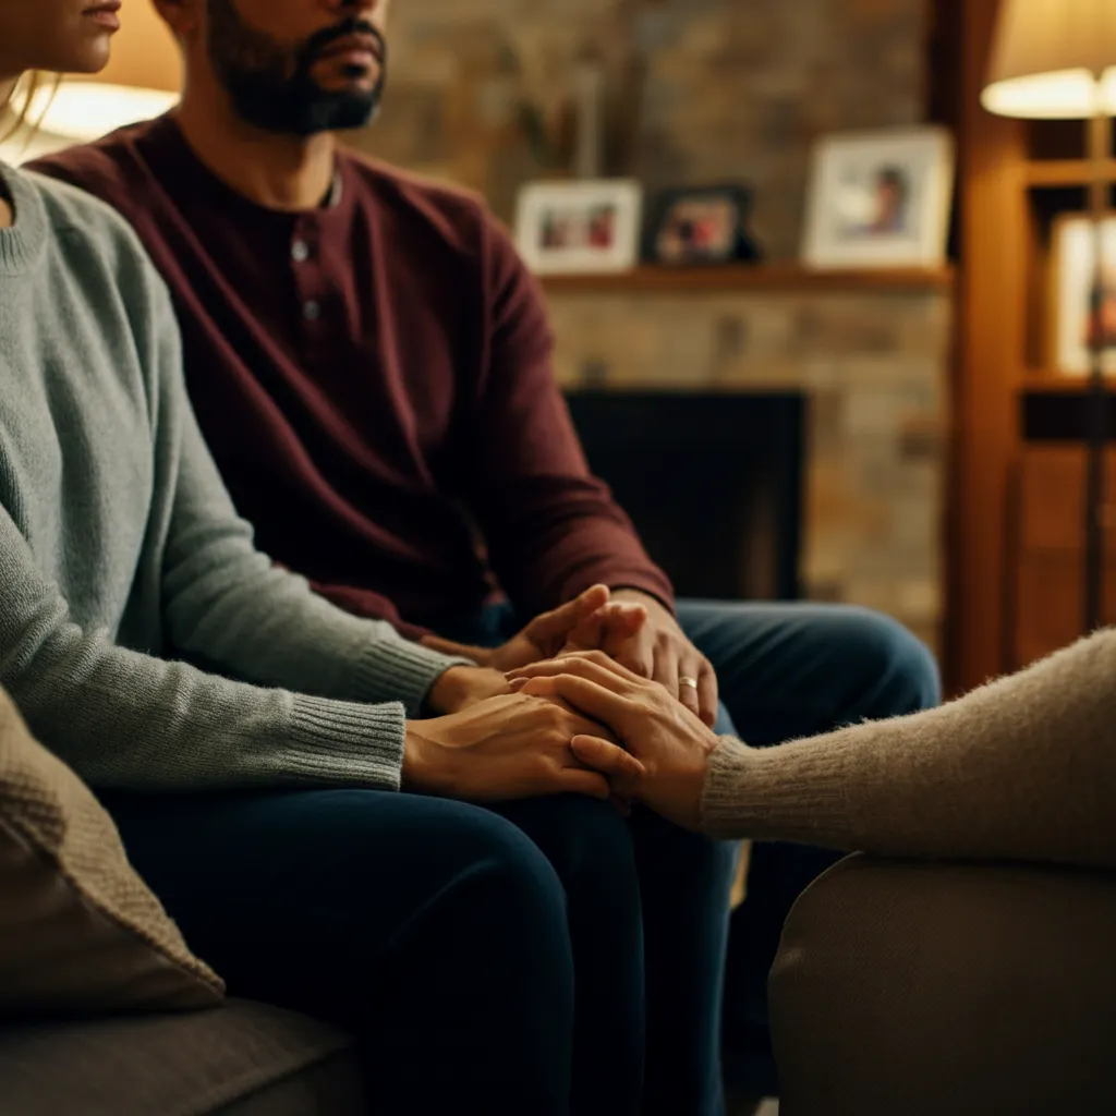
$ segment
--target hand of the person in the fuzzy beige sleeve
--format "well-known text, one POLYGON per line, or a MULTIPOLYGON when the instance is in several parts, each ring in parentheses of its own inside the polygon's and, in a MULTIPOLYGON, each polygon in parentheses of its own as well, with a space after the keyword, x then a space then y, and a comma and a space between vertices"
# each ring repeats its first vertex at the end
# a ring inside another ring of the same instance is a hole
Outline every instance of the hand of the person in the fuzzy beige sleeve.
MULTIPOLYGON (((686 829, 700 828, 705 771, 718 737, 674 694, 599 651, 536 663, 508 677, 513 690, 564 701, 623 741, 643 771, 615 776, 616 793, 686 829)), ((587 767, 600 768, 615 745, 578 735, 570 748, 587 767)))

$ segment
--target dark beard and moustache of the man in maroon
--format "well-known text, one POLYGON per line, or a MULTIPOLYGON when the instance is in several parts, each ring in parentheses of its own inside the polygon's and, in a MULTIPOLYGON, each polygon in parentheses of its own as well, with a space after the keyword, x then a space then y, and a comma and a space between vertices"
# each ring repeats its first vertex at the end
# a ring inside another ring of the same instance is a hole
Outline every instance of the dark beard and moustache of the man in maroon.
POLYGON ((209 0, 209 56, 237 115, 253 127, 288 135, 364 127, 379 108, 387 77, 387 44, 366 20, 348 19, 286 47, 247 27, 233 0, 209 0), (375 87, 362 93, 323 89, 314 78, 315 62, 334 42, 353 35, 372 36, 379 46, 375 87))

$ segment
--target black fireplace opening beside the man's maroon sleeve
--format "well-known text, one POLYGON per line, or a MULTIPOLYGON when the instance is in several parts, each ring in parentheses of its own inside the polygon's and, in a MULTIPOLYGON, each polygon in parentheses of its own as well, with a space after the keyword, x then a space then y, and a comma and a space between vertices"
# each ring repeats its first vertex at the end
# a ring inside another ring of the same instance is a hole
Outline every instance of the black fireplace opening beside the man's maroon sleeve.
POLYGON ((806 400, 576 392, 593 471, 680 597, 796 600, 806 400))

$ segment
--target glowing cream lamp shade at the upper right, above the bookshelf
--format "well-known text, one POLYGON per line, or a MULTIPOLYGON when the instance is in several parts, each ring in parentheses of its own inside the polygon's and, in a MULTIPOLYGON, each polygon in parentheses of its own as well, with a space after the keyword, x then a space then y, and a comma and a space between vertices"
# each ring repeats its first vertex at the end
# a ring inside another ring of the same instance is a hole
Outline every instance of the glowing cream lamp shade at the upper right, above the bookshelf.
POLYGON ((1026 119, 1116 115, 1116 0, 1002 0, 981 103, 1026 119))

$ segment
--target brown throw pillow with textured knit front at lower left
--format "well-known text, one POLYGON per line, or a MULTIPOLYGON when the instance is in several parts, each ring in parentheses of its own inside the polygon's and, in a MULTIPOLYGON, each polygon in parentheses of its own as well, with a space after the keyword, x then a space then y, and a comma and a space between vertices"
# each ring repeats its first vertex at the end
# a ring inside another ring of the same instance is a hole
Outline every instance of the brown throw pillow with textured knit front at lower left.
POLYGON ((112 818, 0 690, 0 1013, 179 1011, 223 993, 112 818))

